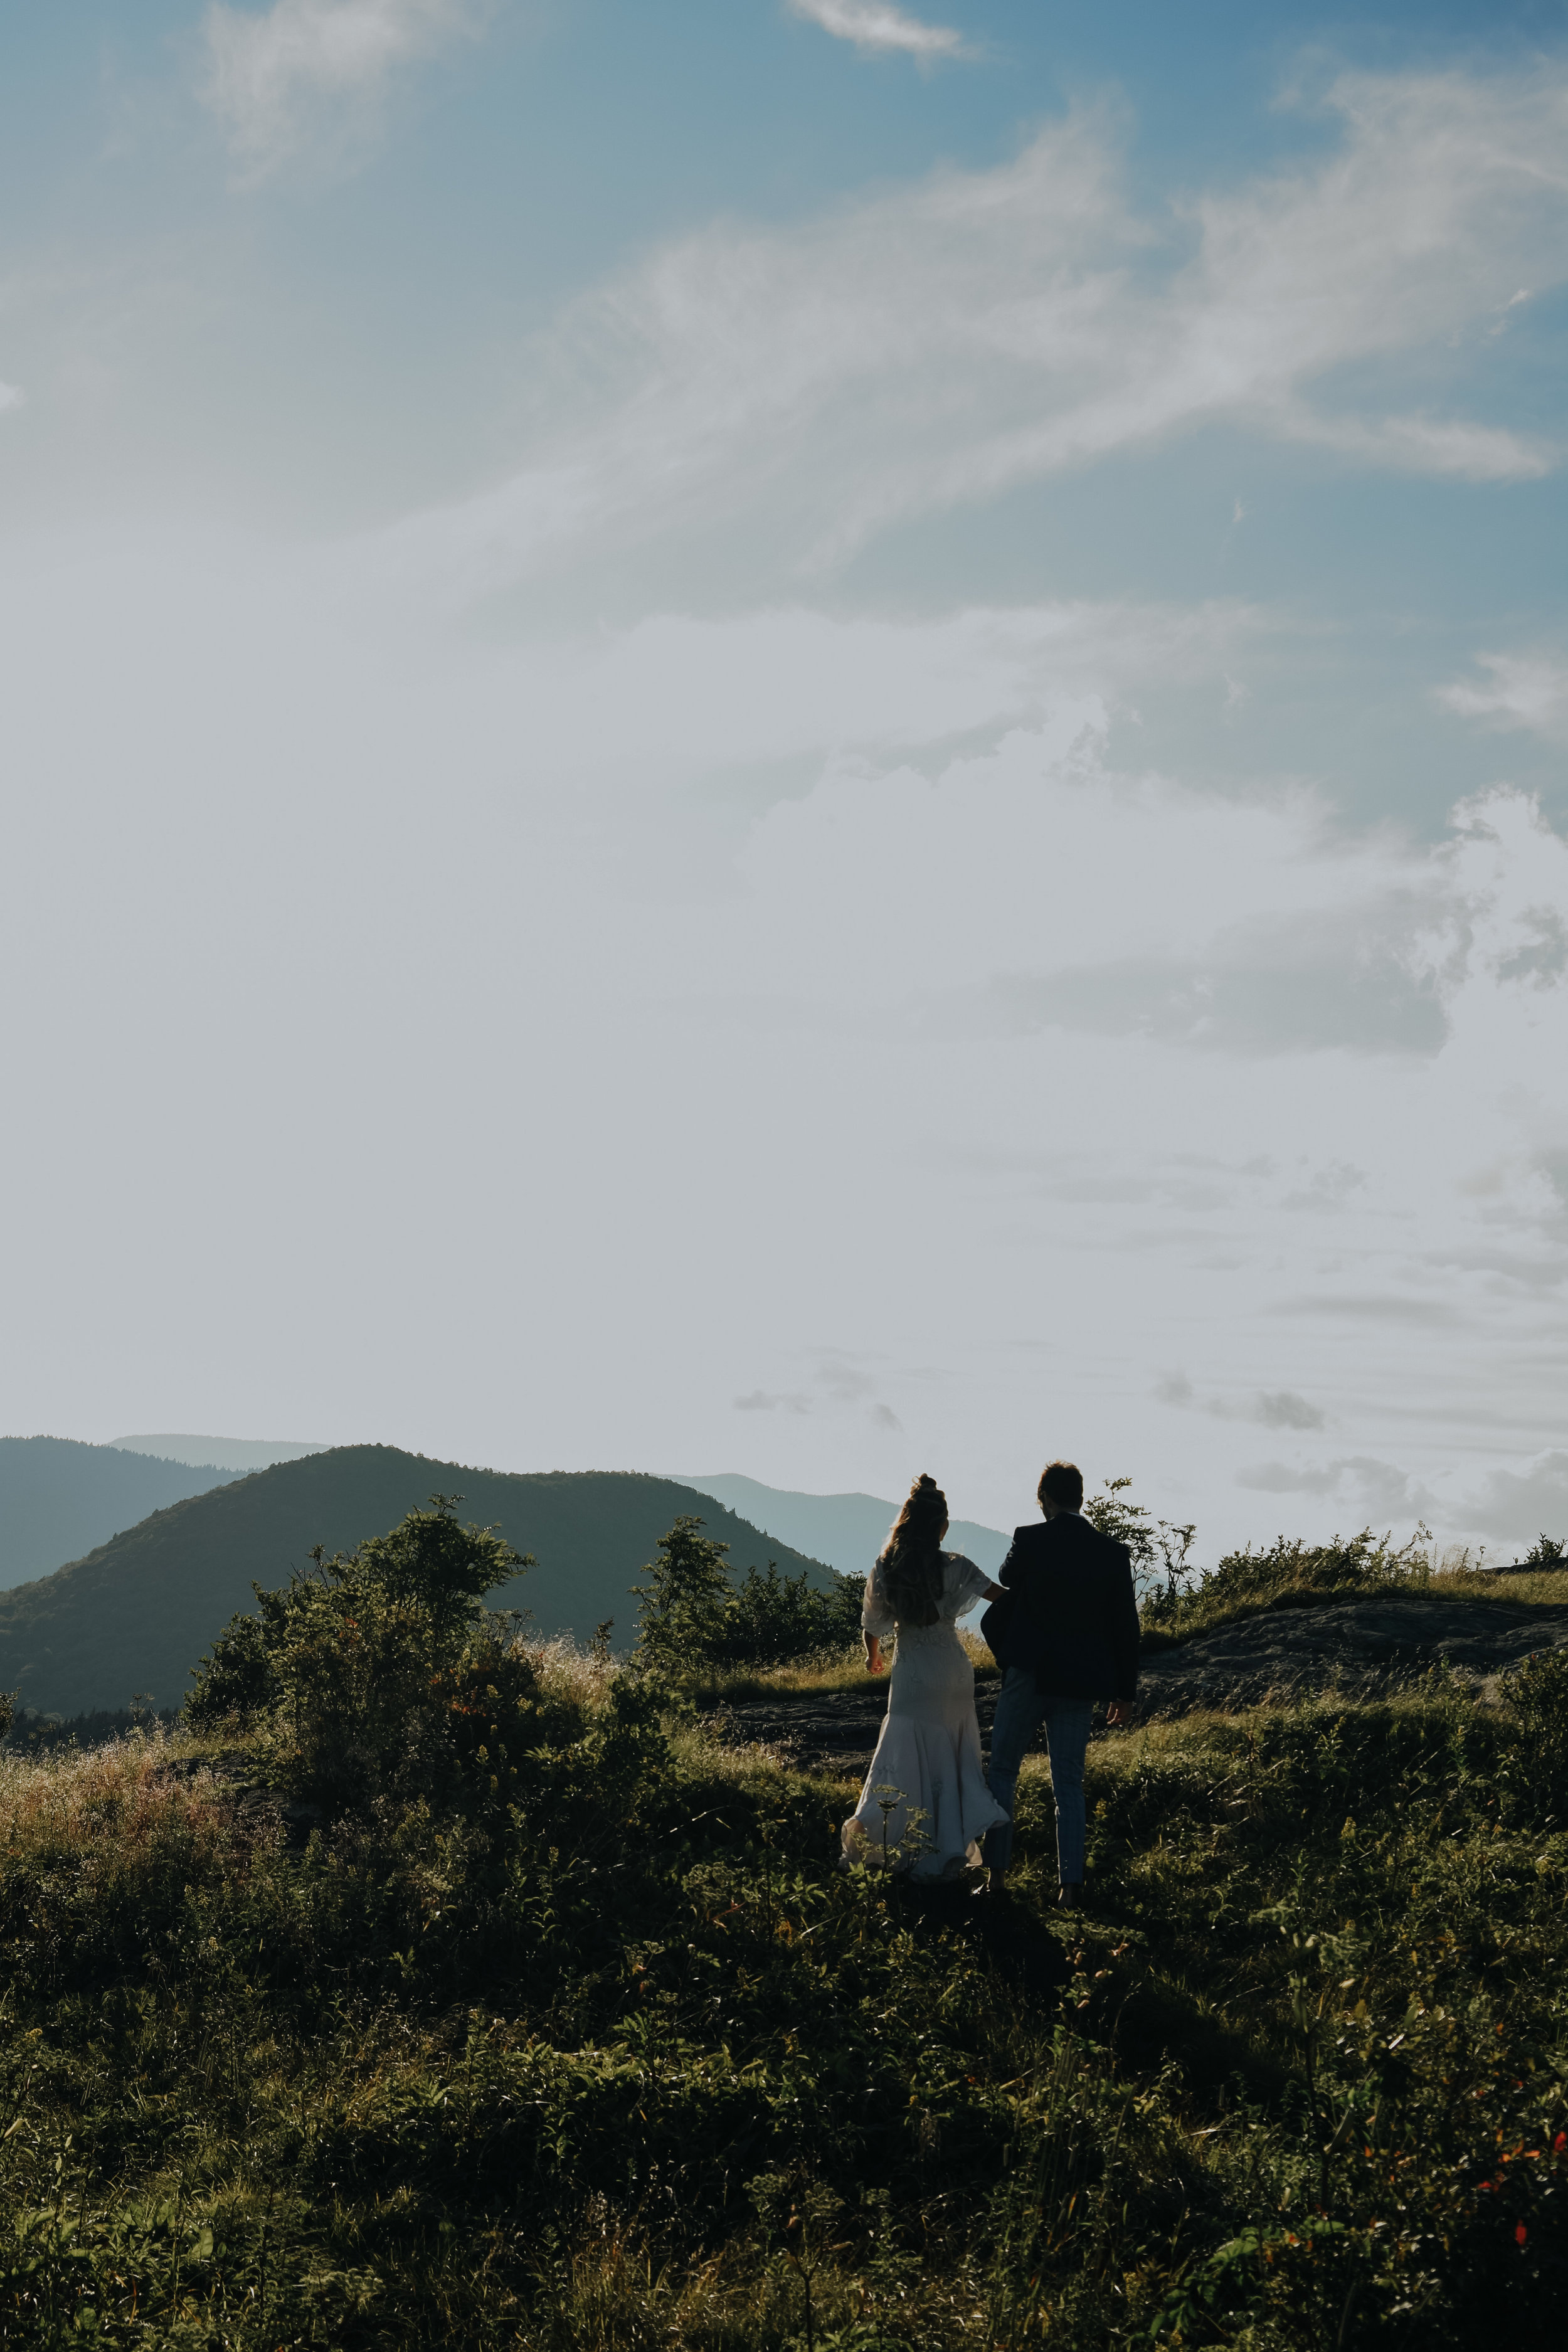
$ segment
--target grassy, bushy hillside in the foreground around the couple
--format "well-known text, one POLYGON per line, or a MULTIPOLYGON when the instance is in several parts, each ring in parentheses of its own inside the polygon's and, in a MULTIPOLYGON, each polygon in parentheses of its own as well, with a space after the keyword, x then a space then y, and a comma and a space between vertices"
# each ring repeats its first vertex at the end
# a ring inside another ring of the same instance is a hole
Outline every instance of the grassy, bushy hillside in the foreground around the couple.
POLYGON ((1561 2345, 1563 1656, 1098 1740, 1063 1919, 1039 1764, 1001 1905, 839 1875, 682 1557, 623 1668, 423 1515, 0 1759, 0 2345, 1561 2345))

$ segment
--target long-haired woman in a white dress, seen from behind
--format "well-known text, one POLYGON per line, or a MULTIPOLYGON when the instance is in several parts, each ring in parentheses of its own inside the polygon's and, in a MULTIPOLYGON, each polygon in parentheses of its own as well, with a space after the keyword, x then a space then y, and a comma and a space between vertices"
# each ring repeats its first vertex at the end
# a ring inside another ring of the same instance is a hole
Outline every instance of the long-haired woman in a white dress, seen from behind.
POLYGON ((1001 1588, 945 1552, 947 1498, 917 1477, 877 1566, 865 1581, 865 1663, 882 1672, 882 1637, 898 1628, 889 1710, 860 1804, 844 1823, 844 1863, 884 1856, 914 1879, 959 1879, 980 1867, 980 1839, 1009 1816, 980 1769, 976 1670, 954 1618, 1001 1588), (917 1813, 919 1820, 910 1816, 917 1813))

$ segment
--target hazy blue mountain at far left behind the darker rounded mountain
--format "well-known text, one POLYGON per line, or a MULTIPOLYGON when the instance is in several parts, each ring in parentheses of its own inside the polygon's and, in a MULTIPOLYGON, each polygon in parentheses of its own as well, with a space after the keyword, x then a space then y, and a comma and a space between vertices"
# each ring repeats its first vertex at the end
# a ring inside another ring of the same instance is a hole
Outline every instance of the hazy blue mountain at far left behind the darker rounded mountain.
POLYGON ((75 1437, 0 1437, 0 1590, 230 1477, 212 1461, 193 1468, 75 1437))

